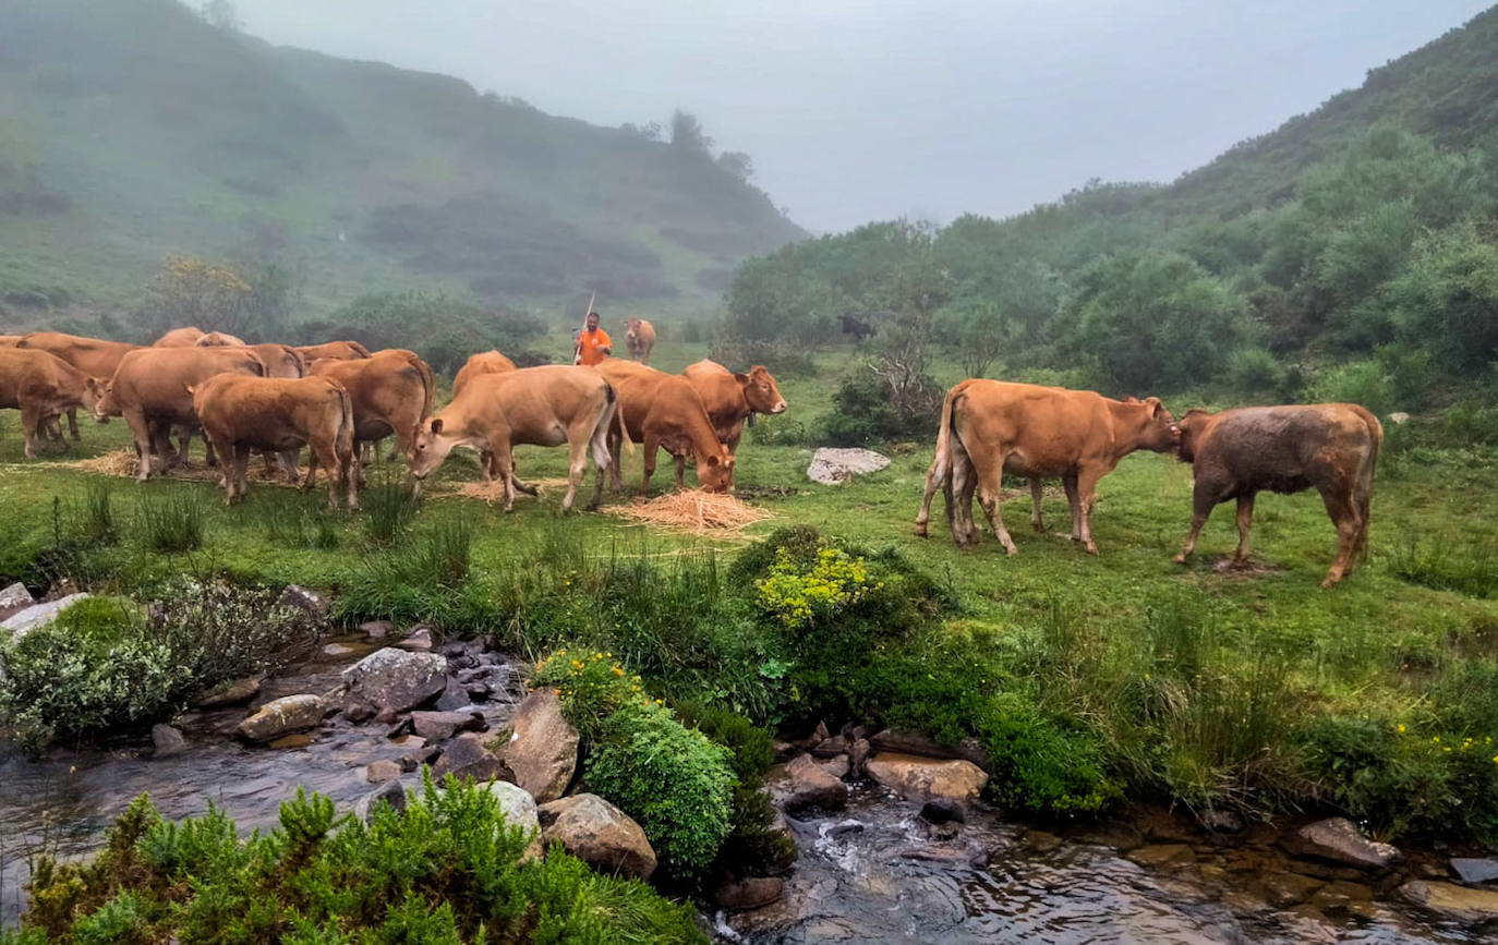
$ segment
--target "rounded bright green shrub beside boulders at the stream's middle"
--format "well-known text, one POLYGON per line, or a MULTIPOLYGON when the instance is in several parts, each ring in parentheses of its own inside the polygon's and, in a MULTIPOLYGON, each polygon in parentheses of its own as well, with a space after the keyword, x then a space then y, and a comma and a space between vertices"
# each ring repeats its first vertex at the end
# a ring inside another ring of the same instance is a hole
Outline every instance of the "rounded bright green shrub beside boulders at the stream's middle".
POLYGON ((604 720, 584 780, 640 824, 670 876, 694 879, 733 825, 731 758, 664 705, 629 704, 604 720))

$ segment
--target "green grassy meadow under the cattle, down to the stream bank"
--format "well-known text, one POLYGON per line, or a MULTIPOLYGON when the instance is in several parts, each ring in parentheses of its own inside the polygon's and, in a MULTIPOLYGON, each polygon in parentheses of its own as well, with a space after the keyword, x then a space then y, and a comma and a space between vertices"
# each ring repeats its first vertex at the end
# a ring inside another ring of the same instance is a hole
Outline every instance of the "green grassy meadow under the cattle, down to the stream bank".
MULTIPOLYGON (((704 353, 664 343, 653 361, 679 370, 704 353)), ((1491 452, 1425 445, 1419 418, 1392 430, 1371 554, 1330 592, 1318 584, 1335 533, 1315 493, 1261 497, 1251 569, 1218 568, 1236 542, 1230 505, 1194 560, 1173 565, 1191 470, 1152 454, 1103 481, 1101 556, 1067 541, 1059 488, 1047 490, 1046 535, 1031 530, 1028 491, 1016 488, 1004 509, 1020 554, 1007 559, 986 526, 977 550, 957 551, 939 511, 932 538, 914 538, 930 440, 890 445, 888 469, 840 487, 806 479, 809 443, 765 445, 791 439, 788 424, 812 431, 855 358, 819 353, 815 377, 780 377, 789 412, 748 431, 737 473, 740 494, 773 517, 733 538, 608 514, 632 500, 638 454, 625 460, 629 491, 605 494, 601 514, 569 518, 557 515, 554 487, 517 497, 509 515, 452 496, 478 478, 466 454, 428 481, 419 508, 379 487, 401 472, 382 463, 357 515, 324 511, 322 490, 264 482, 225 509, 210 481, 141 485, 69 466, 126 446, 118 421, 87 421, 69 454, 25 461, 18 418, 6 413, 0 578, 40 586, 69 574, 129 593, 181 572, 219 572, 333 590, 349 623, 433 619, 452 633, 493 632, 533 657, 569 642, 610 647, 670 698, 759 725, 794 731, 828 714, 833 726, 869 720, 975 737, 1008 758, 996 765, 995 798, 1037 813, 1137 798, 1249 813, 1339 809, 1386 836, 1498 833, 1491 452), (196 521, 201 545, 147 527, 163 518, 190 520, 189 533, 196 521), (819 648, 743 617, 756 580, 734 562, 791 526, 810 526, 890 574, 926 575, 939 613, 887 635, 833 622, 819 648), (846 678, 824 678, 839 666, 813 666, 813 654, 846 659, 846 678)), ((954 380, 956 368, 941 365, 938 379, 954 380)), ((1198 401, 1167 398, 1176 413, 1191 406, 1198 401)), ((524 479, 565 476, 562 449, 521 448, 517 461, 524 479)), ((670 484, 662 457, 656 491, 670 484)))

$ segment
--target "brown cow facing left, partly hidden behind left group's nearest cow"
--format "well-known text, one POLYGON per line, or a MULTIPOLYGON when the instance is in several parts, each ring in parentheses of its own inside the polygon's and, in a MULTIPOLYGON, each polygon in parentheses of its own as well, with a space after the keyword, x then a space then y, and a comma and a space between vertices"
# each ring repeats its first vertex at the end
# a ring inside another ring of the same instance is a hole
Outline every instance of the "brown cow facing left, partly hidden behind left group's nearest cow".
POLYGON ((265 374, 265 365, 247 347, 141 347, 120 359, 103 397, 94 404, 94 418, 124 416, 141 457, 136 479, 151 475, 151 448, 162 467, 186 461, 192 430, 198 425, 189 386, 214 374, 265 374), (171 428, 183 431, 181 449, 168 457, 171 428))

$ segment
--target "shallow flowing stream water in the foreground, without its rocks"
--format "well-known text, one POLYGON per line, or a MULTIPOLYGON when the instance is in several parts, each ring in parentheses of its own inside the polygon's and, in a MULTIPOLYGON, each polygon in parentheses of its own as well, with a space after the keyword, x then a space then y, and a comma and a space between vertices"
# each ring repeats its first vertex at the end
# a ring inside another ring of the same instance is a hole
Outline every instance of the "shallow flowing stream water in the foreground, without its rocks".
MULTIPOLYGON (((325 692, 377 642, 334 641, 291 675, 267 680, 256 702, 325 692)), ((514 711, 505 693, 479 704, 491 728, 514 711)), ((82 857, 130 801, 148 792, 166 818, 201 815, 213 803, 249 833, 277 822, 297 786, 351 807, 373 786, 364 768, 421 747, 386 738, 386 726, 336 717, 282 747, 226 737, 244 708, 192 713, 180 728, 189 749, 151 758, 139 741, 30 761, 0 744, 0 921, 24 909, 28 858, 82 857)), ((407 783, 410 776, 407 776, 407 783)), ((1468 944, 1482 933, 1441 924, 1374 896, 1324 908, 1275 909, 1263 896, 1272 869, 1239 846, 1176 845, 1140 866, 1080 836, 1058 837, 975 809, 962 825, 933 827, 918 806, 876 785, 854 786, 846 810, 788 819, 801 849, 779 903, 707 917, 725 942, 800 945, 870 942, 1389 942, 1468 944), (1185 849, 1176 849, 1185 848, 1185 849)), ((1156 846, 1153 849, 1165 849, 1156 846)), ((1132 854, 1137 860, 1143 857, 1132 854)), ((1344 884, 1347 885, 1347 884, 1344 884)))

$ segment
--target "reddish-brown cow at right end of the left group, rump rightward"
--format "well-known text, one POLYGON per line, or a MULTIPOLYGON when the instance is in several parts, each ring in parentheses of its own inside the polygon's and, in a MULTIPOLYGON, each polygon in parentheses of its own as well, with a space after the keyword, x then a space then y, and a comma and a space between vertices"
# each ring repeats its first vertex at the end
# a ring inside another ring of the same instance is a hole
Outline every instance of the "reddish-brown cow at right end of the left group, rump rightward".
POLYGON ((416 427, 431 416, 436 392, 431 368, 415 352, 389 347, 355 361, 313 361, 312 374, 349 391, 357 449, 395 434, 400 452, 410 455, 416 427))

